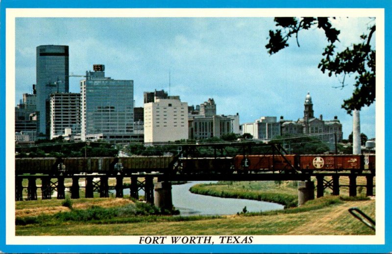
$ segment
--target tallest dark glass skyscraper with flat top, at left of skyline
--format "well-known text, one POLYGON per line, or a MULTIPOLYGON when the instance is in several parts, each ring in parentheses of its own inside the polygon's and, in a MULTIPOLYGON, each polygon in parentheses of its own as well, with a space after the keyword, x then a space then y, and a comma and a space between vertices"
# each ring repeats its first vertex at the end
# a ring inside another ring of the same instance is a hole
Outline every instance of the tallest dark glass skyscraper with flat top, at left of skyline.
POLYGON ((49 95, 69 92, 68 46, 37 47, 38 132, 49 136, 49 95))

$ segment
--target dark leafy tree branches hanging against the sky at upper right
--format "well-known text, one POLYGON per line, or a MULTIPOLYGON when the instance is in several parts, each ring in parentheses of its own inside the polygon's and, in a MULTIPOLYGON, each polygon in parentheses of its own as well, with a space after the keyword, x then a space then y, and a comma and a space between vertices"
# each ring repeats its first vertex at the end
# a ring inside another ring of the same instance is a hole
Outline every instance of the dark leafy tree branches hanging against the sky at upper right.
POLYGON ((367 34, 360 36, 361 43, 353 44, 341 52, 336 52, 336 43, 339 42, 338 36, 340 31, 332 27, 331 19, 327 17, 284 17, 275 18, 274 22, 278 26, 275 30, 270 30, 270 41, 266 45, 268 53, 274 54, 289 46, 288 41, 295 36, 297 45, 298 34, 301 30, 310 28, 319 28, 324 30, 325 36, 329 42, 321 59, 318 68, 322 73, 328 73, 328 76, 343 76, 341 87, 347 84, 345 76, 354 75, 354 91, 351 98, 343 100, 342 108, 348 114, 354 109, 361 109, 363 106, 369 106, 375 101, 376 96, 376 51, 372 48, 370 41, 376 30, 376 25, 368 27, 367 34))

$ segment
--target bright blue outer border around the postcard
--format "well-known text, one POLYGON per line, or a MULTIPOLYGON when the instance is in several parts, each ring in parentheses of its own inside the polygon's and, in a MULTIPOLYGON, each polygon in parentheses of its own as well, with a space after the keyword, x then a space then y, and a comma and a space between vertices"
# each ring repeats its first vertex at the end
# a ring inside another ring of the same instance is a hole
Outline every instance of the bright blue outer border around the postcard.
POLYGON ((323 0, 323 1, 132 1, 120 0, 2 0, 0 2, 0 252, 4 253, 390 253, 392 252, 392 209, 390 202, 392 172, 389 142, 391 135, 391 0, 323 0), (385 244, 384 245, 6 245, 5 243, 5 10, 7 8, 382 8, 385 10, 385 244))

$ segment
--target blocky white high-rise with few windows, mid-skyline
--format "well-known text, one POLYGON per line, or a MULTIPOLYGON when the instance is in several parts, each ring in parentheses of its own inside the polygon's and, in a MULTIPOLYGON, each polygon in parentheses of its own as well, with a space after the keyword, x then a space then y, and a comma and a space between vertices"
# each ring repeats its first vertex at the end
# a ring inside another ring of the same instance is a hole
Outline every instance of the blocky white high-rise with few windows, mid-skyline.
POLYGON ((179 96, 144 104, 144 142, 188 139, 188 103, 179 96))

